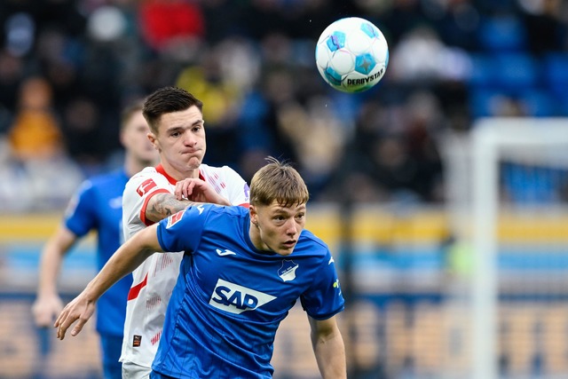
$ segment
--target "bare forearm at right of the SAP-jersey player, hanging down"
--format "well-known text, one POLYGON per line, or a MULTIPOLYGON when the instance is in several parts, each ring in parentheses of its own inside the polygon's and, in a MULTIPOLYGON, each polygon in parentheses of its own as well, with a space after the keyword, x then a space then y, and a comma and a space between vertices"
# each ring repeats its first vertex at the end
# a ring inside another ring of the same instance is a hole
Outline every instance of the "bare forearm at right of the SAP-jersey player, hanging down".
POLYGON ((318 362, 319 374, 324 379, 346 379, 345 345, 334 317, 327 320, 310 320, 312 348, 318 362))

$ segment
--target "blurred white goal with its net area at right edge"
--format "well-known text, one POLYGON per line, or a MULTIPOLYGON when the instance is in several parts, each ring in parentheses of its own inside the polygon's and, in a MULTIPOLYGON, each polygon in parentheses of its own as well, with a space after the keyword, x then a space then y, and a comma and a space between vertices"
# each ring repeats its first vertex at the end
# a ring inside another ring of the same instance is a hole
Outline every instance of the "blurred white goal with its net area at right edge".
POLYGON ((481 119, 445 142, 446 376, 567 377, 568 119, 481 119))

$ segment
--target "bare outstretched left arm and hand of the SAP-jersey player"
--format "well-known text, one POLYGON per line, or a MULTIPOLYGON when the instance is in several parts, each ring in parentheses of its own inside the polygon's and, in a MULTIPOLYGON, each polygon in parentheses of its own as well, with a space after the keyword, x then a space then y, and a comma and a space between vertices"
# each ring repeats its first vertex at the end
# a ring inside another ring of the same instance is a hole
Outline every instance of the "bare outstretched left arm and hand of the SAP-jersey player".
POLYGON ((157 224, 148 226, 124 242, 83 292, 63 308, 54 324, 54 327, 58 328, 57 337, 60 340, 65 338, 67 329, 77 320, 71 336, 78 335, 95 312, 95 304, 99 297, 118 280, 134 271, 147 257, 156 251, 162 251, 156 234, 157 227, 157 224))

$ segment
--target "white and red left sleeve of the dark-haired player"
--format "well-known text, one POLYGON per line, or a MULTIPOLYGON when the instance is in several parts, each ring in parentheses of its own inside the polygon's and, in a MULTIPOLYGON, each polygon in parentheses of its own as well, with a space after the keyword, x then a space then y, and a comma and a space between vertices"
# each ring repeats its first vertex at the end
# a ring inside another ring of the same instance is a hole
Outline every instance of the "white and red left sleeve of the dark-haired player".
POLYGON ((172 193, 168 179, 153 168, 140 171, 130 178, 122 194, 122 222, 130 225, 140 220, 144 225, 154 224, 146 219, 146 206, 156 193, 172 193))

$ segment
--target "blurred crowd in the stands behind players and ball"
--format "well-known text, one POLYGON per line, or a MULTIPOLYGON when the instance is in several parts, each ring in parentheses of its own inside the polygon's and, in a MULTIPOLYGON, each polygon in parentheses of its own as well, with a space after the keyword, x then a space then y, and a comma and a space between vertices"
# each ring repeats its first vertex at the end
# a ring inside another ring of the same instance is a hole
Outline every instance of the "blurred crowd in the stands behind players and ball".
POLYGON ((295 162, 316 201, 444 201, 438 139, 486 115, 568 115, 563 0, 4 0, 0 209, 59 209, 122 160, 121 108, 177 85, 204 102, 206 163, 295 162), (357 95, 314 62, 359 16, 390 63, 357 95))

